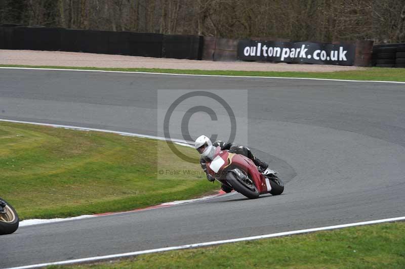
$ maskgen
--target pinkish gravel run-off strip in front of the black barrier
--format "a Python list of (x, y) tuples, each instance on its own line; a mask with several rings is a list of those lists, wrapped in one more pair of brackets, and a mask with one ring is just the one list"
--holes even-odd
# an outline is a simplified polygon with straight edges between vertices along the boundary
[(263, 62), (213, 62), (168, 58), (149, 58), (77, 52), (0, 50), (0, 64), (74, 67), (163, 68), (235, 71), (333, 72), (361, 69), (355, 66), (286, 64)]

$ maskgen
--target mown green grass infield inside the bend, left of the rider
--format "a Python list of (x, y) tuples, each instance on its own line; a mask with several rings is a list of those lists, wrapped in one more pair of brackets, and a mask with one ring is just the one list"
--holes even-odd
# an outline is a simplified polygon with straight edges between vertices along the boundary
[(22, 219), (130, 210), (220, 187), (204, 175), (160, 176), (158, 169), (201, 171), (163, 141), (0, 122), (0, 195)]

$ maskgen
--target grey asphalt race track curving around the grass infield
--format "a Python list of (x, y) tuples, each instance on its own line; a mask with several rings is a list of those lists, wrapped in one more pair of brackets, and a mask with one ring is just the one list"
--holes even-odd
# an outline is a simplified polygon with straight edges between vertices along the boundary
[(0, 267), (405, 215), (405, 84), (1, 69), (0, 118), (161, 136), (157, 89), (249, 89), (249, 146), (285, 193), (22, 227)]

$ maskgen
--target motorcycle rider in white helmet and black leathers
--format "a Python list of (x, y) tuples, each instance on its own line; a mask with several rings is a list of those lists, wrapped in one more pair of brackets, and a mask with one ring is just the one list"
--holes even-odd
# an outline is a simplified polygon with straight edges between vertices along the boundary
[[(251, 159), (256, 166), (258, 167), (259, 171), (263, 171), (266, 172), (267, 167), (269, 166), (267, 163), (259, 160), (259, 158), (255, 157), (252, 154), (252, 151), (245, 146), (241, 146), (241, 145), (236, 145), (233, 143), (225, 143), (223, 141), (215, 141), (214, 143), (211, 142), (211, 140), (206, 137), (206, 136), (200, 136), (198, 137), (195, 142), (194, 142), (194, 146), (195, 149), (198, 151), (198, 153), (200, 154), (200, 165), (203, 168), (204, 172), (206, 172), (207, 174), (207, 179), (210, 182), (214, 182), (215, 178), (210, 175), (209, 173), (207, 173), (207, 161), (212, 161), (215, 155), (215, 149), (217, 147), (221, 147), (221, 150), (228, 150), (231, 153), (236, 153), (236, 154), (241, 154), (244, 155), (246, 157), (248, 157), (249, 159)], [(232, 191), (232, 189), (230, 189), (229, 187), (222, 185), (221, 189), (226, 192), (229, 193)]]

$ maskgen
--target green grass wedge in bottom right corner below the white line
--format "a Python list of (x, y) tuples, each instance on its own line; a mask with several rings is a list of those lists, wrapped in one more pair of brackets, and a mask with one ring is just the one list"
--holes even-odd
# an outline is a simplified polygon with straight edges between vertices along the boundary
[(50, 268), (404, 268), (405, 223), (384, 223)]

